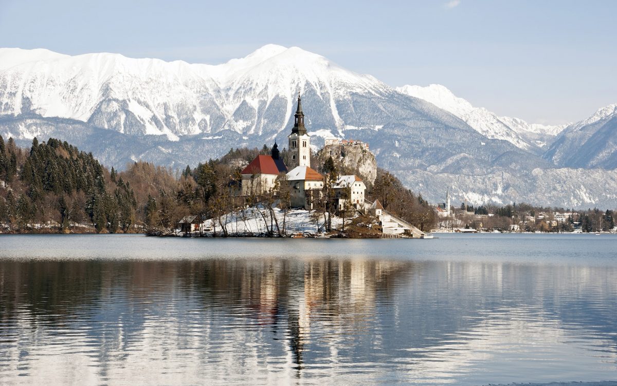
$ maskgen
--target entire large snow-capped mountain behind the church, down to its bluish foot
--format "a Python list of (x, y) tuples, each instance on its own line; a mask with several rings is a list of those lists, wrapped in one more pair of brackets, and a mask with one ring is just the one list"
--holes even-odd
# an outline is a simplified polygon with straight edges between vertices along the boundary
[[(617, 199), (606, 190), (617, 191), (616, 171), (562, 172), (540, 157), (529, 133), (553, 138), (557, 128), (491, 116), (436, 90), (410, 96), (297, 47), (267, 45), (220, 65), (0, 49), (0, 134), (22, 146), (59, 138), (118, 168), (138, 159), (183, 168), (231, 147), (285, 144), (300, 92), (313, 144), (366, 141), (379, 166), (433, 202), (448, 185), (473, 203)], [(449, 102), (427, 96), (440, 93)]]

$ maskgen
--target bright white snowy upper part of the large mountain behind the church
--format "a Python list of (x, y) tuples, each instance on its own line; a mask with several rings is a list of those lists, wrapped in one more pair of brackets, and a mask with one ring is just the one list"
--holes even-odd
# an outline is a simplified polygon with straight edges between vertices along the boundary
[(275, 45), (215, 66), (2, 49), (0, 70), (2, 115), (36, 113), (171, 140), (225, 130), (262, 134), (265, 126), (283, 129), (297, 92), (317, 94), (327, 107), (319, 112), (329, 116), (324, 123), (342, 129), (337, 91), (380, 94), (386, 88), (320, 55)]

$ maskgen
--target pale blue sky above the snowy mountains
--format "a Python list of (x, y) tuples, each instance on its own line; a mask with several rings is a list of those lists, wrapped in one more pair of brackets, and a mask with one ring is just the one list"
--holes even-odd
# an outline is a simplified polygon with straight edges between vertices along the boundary
[(0, 0), (0, 47), (219, 64), (298, 46), (391, 86), (443, 84), (561, 124), (617, 103), (617, 1)]

